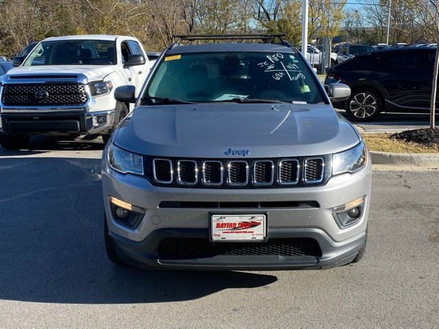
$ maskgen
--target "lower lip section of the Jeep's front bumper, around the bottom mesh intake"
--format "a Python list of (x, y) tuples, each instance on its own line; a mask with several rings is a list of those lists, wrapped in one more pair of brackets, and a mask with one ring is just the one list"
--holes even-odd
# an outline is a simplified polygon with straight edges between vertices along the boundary
[(157, 246), (163, 239), (209, 239), (203, 229), (155, 230), (141, 242), (110, 232), (118, 256), (126, 263), (147, 269), (328, 269), (350, 263), (366, 243), (366, 232), (346, 241), (335, 242), (316, 228), (272, 229), (269, 239), (315, 239), (321, 256), (213, 256), (210, 258), (161, 258)]

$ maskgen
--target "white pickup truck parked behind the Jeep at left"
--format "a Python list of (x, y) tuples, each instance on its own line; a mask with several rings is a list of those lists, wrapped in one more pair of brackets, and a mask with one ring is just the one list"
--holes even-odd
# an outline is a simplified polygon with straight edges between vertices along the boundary
[(115, 89), (140, 90), (151, 65), (139, 40), (107, 35), (47, 38), (13, 63), (0, 88), (0, 145), (7, 149), (25, 148), (34, 134), (108, 141), (130, 112), (130, 104), (115, 101)]

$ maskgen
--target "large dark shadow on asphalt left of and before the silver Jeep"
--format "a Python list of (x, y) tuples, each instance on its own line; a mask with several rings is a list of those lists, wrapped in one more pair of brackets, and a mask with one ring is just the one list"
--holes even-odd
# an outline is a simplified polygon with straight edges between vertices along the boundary
[(0, 300), (112, 304), (193, 300), (263, 287), (276, 276), (143, 271), (106, 258), (100, 160), (4, 158)]

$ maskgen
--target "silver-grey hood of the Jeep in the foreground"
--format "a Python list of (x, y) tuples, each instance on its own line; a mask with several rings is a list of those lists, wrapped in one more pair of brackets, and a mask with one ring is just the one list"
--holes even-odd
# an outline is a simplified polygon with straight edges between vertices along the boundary
[[(359, 143), (330, 105), (201, 103), (141, 106), (127, 117), (115, 144), (152, 156), (248, 158), (316, 156)], [(246, 152), (239, 152), (240, 154)]]

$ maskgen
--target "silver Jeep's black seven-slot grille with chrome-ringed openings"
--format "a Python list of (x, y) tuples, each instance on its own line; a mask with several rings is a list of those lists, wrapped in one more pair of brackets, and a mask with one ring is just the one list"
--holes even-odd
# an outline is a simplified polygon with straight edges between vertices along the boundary
[(187, 188), (278, 188), (315, 186), (331, 175), (330, 156), (281, 159), (217, 159), (145, 157), (152, 184)]

